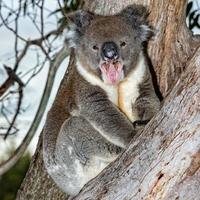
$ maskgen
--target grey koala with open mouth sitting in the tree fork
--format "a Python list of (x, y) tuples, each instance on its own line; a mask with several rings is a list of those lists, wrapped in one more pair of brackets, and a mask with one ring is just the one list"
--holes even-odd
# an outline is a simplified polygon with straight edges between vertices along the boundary
[[(153, 31), (147, 10), (132, 5), (116, 15), (69, 14), (66, 43), (76, 55), (69, 83), (69, 117), (53, 136), (47, 120), (45, 167), (71, 196), (114, 161), (159, 110), (144, 54)], [(56, 120), (55, 120), (56, 121)], [(53, 139), (52, 139), (53, 138)]]

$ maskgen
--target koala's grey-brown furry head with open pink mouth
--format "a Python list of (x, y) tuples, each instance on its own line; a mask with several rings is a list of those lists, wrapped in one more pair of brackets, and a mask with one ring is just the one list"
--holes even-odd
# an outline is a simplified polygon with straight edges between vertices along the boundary
[(113, 16), (80, 10), (69, 15), (72, 23), (66, 41), (88, 72), (115, 85), (134, 70), (143, 43), (152, 36), (147, 15), (141, 5), (129, 6)]

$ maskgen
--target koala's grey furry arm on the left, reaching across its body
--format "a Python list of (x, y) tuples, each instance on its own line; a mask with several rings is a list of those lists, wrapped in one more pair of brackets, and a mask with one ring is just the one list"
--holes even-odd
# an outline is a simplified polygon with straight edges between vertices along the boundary
[(102, 91), (88, 91), (80, 98), (80, 115), (108, 141), (125, 148), (135, 134), (132, 123)]

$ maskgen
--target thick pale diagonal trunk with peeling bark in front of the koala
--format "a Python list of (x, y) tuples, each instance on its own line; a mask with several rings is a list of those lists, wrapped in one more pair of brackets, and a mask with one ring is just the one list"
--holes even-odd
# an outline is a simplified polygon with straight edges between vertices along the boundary
[[(177, 198), (173, 188), (178, 188), (188, 171), (194, 176), (200, 172), (200, 163), (192, 166), (196, 162), (193, 158), (200, 158), (197, 156), (200, 149), (199, 62), (200, 48), (158, 115), (141, 135), (133, 138), (123, 155), (89, 182), (74, 200)], [(198, 182), (198, 176), (193, 181)], [(190, 185), (197, 197), (200, 188), (196, 189), (194, 183)], [(191, 199), (192, 192), (187, 194), (181, 187), (179, 190), (187, 196), (184, 199)]]

